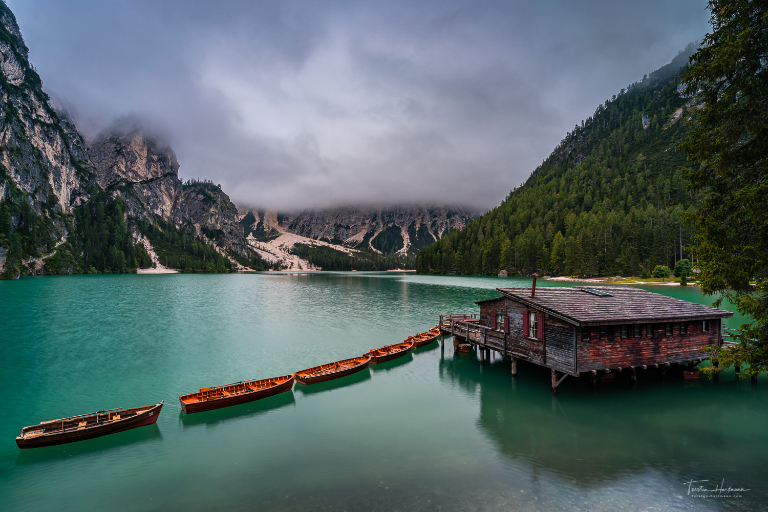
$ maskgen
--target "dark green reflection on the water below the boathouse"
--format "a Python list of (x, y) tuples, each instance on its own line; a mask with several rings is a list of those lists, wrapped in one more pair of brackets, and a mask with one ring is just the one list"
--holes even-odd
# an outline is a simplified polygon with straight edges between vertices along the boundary
[[(472, 395), (479, 391), (478, 427), (510, 459), (581, 484), (653, 469), (671, 473), (670, 484), (691, 475), (733, 477), (739, 486), (764, 489), (768, 472), (755, 450), (768, 442), (766, 388), (645, 372), (636, 387), (628, 375), (595, 389), (569, 378), (554, 396), (547, 368), (518, 365), (513, 381), (508, 361), (483, 366), (467, 356), (441, 360), (439, 374)], [(754, 481), (743, 481), (744, 474)]]

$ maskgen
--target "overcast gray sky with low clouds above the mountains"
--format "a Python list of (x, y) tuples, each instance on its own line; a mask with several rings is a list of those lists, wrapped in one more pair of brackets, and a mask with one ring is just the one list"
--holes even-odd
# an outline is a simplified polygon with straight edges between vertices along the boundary
[(8, 0), (93, 136), (135, 114), (240, 205), (498, 205), (709, 29), (704, 0)]

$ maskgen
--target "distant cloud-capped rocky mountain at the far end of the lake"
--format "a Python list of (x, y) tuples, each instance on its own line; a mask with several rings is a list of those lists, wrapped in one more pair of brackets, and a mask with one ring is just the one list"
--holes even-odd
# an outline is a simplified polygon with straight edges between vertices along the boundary
[(265, 242), (286, 232), (373, 253), (413, 256), (446, 233), (461, 230), (471, 219), (458, 206), (346, 206), (304, 210), (298, 215), (247, 210), (240, 223), (246, 236)]

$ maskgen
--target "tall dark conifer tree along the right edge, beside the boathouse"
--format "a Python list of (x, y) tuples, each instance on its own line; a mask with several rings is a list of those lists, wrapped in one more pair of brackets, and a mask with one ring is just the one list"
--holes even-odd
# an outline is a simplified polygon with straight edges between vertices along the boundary
[[(702, 101), (680, 149), (697, 165), (683, 176), (703, 202), (697, 230), (704, 293), (750, 319), (735, 347), (713, 349), (720, 368), (768, 370), (768, 2), (711, 0), (713, 32), (691, 56), (688, 94)], [(750, 281), (755, 282), (754, 285)]]

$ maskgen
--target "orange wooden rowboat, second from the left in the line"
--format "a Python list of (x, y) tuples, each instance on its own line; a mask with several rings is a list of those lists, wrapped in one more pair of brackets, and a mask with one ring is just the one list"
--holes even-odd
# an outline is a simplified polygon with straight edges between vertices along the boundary
[(179, 401), (181, 408), (187, 414), (200, 411), (210, 411), (230, 405), (244, 404), (249, 401), (260, 400), (268, 396), (277, 395), (293, 388), (293, 375), (282, 377), (252, 379), (250, 381), (233, 382), (200, 388), (197, 393), (181, 395)]

